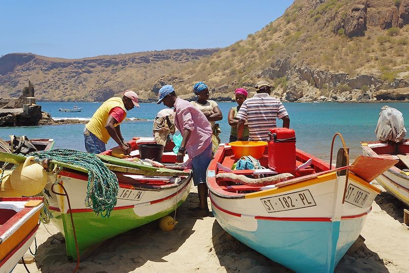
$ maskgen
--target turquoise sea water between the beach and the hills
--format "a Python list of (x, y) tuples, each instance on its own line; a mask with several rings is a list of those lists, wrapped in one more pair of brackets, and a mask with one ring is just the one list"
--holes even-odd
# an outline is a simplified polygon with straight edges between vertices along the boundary
[[(80, 118), (89, 119), (101, 105), (99, 102), (38, 102), (42, 111), (48, 112), (55, 119)], [(229, 109), (237, 106), (236, 102), (219, 102), (223, 119), (219, 121), (222, 130), (221, 141), (229, 141), (230, 125), (227, 121)], [(296, 131), (297, 148), (304, 150), (321, 159), (330, 157), (331, 140), (336, 132), (341, 133), (350, 148), (351, 158), (361, 154), (359, 141), (375, 140), (375, 128), (378, 121), (380, 108), (384, 105), (394, 107), (403, 114), (406, 120), (406, 130), (409, 131), (409, 103), (334, 103), (310, 102), (296, 103), (285, 102), (284, 106), (290, 116), (290, 128)], [(59, 112), (60, 108), (72, 109), (74, 106), (82, 107), (80, 113)], [(152, 136), (153, 118), (156, 113), (165, 108), (163, 104), (140, 103), (140, 108), (128, 112), (128, 118), (143, 118), (147, 121), (127, 121), (121, 124), (121, 131), (125, 139), (133, 136)], [(281, 120), (277, 122), (282, 126)], [(0, 128), (0, 137), (9, 139), (9, 135), (26, 135), (29, 138), (53, 138), (55, 148), (69, 148), (85, 151), (82, 130), (84, 124), (73, 125), (45, 125), (37, 127), (8, 127)], [(340, 140), (335, 141), (335, 147), (341, 146)], [(107, 148), (115, 146), (112, 139)], [(334, 150), (336, 151), (336, 150)], [(336, 153), (336, 152), (334, 152)]]

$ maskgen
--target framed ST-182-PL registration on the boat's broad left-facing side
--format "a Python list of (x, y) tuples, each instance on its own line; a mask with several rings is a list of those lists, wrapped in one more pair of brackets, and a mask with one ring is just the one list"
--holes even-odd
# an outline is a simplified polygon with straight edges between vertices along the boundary
[(309, 190), (260, 199), (267, 213), (316, 206)]

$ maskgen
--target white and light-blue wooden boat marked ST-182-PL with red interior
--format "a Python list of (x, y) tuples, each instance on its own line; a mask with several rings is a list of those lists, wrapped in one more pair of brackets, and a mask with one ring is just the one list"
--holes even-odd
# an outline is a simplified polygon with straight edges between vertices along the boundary
[(274, 181), (280, 175), (269, 165), (282, 164), (292, 152), (280, 152), (280, 142), (270, 149), (273, 142), (259, 160), (265, 169), (259, 170), (232, 170), (238, 164), (232, 146), (219, 146), (207, 174), (213, 214), (226, 232), (277, 263), (296, 272), (333, 272), (380, 193), (370, 181), (396, 160), (375, 159), (373, 164), (373, 158), (359, 156), (352, 165), (346, 160), (334, 169), (294, 144), (293, 167), (285, 174), (293, 177), (270, 185), (245, 184), (252, 180), (248, 176)]

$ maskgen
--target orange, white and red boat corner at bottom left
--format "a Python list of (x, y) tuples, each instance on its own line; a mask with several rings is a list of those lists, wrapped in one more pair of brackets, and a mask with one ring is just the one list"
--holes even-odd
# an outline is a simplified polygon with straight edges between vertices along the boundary
[(34, 241), (42, 197), (0, 197), (0, 272), (11, 272)]

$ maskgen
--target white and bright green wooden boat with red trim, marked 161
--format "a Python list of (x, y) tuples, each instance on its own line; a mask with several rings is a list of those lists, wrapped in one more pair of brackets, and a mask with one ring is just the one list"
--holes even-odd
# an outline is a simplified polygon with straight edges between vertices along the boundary
[[(188, 197), (192, 183), (191, 170), (175, 164), (176, 155), (173, 152), (163, 153), (162, 164), (165, 167), (153, 167), (133, 161), (139, 157), (139, 145), (156, 143), (153, 138), (134, 138), (128, 143), (131, 144), (132, 157), (127, 160), (112, 157), (112, 150), (98, 155), (119, 182), (115, 207), (109, 217), (96, 215), (85, 204), (87, 170), (52, 161), (60, 169), (58, 173), (49, 174), (44, 198), (53, 216), (51, 222), (65, 237), (69, 259), (78, 260), (78, 256), (80, 260), (85, 259), (107, 239), (167, 216)], [(13, 160), (23, 162), (26, 158), (14, 156)], [(55, 184), (56, 180), (58, 184)]]

